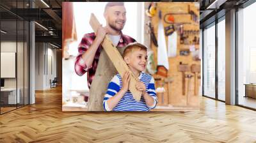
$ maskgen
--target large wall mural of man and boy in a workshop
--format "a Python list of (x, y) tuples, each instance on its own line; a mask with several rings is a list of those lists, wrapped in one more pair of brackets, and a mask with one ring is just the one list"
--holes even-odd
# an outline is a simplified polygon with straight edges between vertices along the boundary
[(199, 3), (99, 3), (106, 24), (92, 10), (81, 38), (76, 4), (63, 3), (63, 111), (199, 109)]

